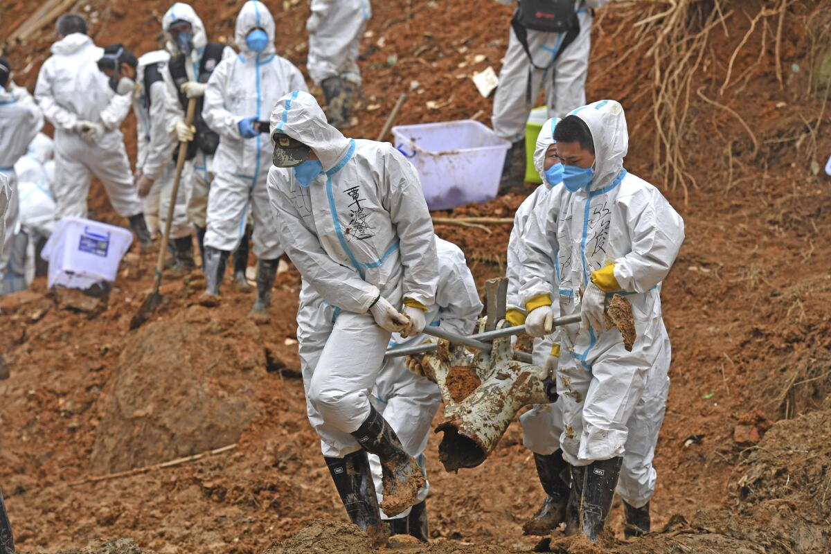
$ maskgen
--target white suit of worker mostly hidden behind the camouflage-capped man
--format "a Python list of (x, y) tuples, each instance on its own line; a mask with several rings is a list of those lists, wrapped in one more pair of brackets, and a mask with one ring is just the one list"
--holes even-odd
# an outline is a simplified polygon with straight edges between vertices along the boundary
[[(467, 266), (465, 252), (454, 243), (438, 237), (435, 238), (435, 249), (439, 255), (439, 287), (435, 292), (435, 304), (429, 306), (425, 313), (427, 325), (440, 326), (458, 335), (470, 335), (482, 311), (482, 302), (479, 301), (479, 292), (476, 292), (473, 274)], [(390, 347), (415, 346), (428, 338), (422, 334), (405, 339), (393, 333)], [(408, 370), (404, 360), (387, 358), (384, 361), (371, 401), (401, 439), (406, 453), (416, 458), (424, 472), (425, 486), (418, 495), (418, 502), (421, 502), (430, 493), (424, 450), (430, 436), (430, 424), (441, 404), (441, 392), (439, 385)], [(381, 462), (376, 455), (370, 454), (369, 463), (380, 505), (383, 499)], [(408, 507), (396, 518), (409, 514)], [(383, 510), (381, 517), (389, 519)]]

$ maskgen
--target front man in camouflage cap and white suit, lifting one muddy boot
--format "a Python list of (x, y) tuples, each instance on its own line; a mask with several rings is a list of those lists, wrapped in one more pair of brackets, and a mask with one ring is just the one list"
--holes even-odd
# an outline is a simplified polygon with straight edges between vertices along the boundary
[(333, 321), (297, 331), (309, 420), (352, 521), (383, 541), (358, 501), (371, 494), (366, 454), (381, 459), (389, 516), (418, 503), (425, 478), (367, 393), (391, 333), (420, 334), (435, 304), (433, 223), (404, 156), (388, 143), (347, 139), (308, 93), (278, 101), (271, 138), (268, 195), (280, 243), (304, 286), (333, 306)]

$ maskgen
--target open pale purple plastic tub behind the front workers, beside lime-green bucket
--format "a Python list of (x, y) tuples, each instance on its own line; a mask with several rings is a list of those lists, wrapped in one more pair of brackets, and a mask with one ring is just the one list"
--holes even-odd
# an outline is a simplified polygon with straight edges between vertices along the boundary
[(392, 136), (416, 166), (430, 209), (496, 198), (510, 143), (479, 121), (400, 125)]

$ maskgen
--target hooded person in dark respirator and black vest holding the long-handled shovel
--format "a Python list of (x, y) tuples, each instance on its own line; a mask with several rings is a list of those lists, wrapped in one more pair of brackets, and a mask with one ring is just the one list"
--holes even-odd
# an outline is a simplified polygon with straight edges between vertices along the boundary
[[(214, 180), (214, 152), (219, 146), (219, 135), (211, 130), (202, 115), (203, 96), (211, 73), (220, 61), (236, 57), (234, 48), (219, 42), (209, 42), (204, 24), (193, 7), (175, 2), (161, 19), (170, 61), (162, 71), (165, 80), (166, 127), (171, 136), (189, 142), (188, 163), (185, 166), (187, 213), (196, 228), (199, 255), (204, 267), (204, 235), (207, 227), (208, 191)], [(194, 124), (184, 122), (190, 98), (196, 98)], [(175, 155), (171, 151), (171, 156)], [(244, 224), (244, 223), (243, 223)]]

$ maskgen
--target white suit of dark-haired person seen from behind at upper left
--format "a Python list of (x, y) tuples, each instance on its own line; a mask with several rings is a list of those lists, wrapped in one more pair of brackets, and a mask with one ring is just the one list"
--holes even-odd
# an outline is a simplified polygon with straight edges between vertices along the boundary
[[(96, 64), (103, 49), (75, 32), (52, 45), (52, 56), (37, 76), (35, 98), (55, 127), (57, 217), (86, 218), (86, 196), (96, 174), (112, 207), (123, 218), (141, 213), (130, 160), (119, 126), (130, 111), (130, 95), (116, 95)], [(80, 120), (101, 123), (106, 131), (92, 142), (73, 129)]]

